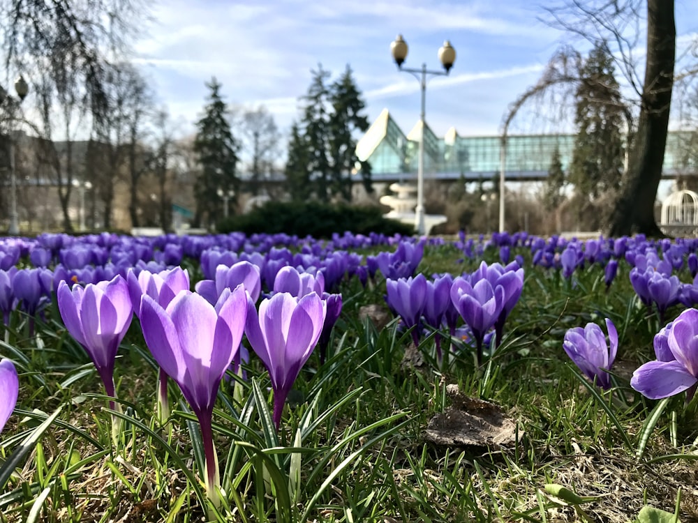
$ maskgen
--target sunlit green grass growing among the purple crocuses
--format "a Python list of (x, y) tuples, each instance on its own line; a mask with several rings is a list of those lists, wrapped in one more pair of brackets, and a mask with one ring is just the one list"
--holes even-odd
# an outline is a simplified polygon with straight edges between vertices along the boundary
[[(530, 257), (521, 253), (527, 257), (523, 295), (489, 372), (475, 368), (471, 353), (439, 369), (433, 364), (433, 336), (419, 346), (423, 365), (403, 365), (411, 336), (401, 333), (396, 321), (379, 331), (359, 319), (363, 305), (385, 307), (380, 277), (366, 290), (356, 281), (343, 287), (331, 356), (322, 367), (316, 356), (306, 364), (278, 433), (269, 412), (269, 379), (253, 356), (251, 379), (224, 383), (214, 410), (224, 491), (216, 518), (629, 521), (646, 504), (673, 513), (678, 488), (685, 487), (681, 517), (695, 520), (695, 405), (686, 409), (683, 397), (646, 400), (628, 384), (628, 370), (652, 358), (659, 328), (634, 298), (628, 266), (621, 264), (607, 293), (597, 266), (576, 274), (572, 285), (558, 273), (530, 266)], [(450, 246), (428, 248), (420, 270), (459, 274), (480, 263), (458, 264), (458, 258)], [(486, 252), (486, 259), (494, 261), (493, 252)], [(669, 311), (671, 317), (678, 312)], [(602, 324), (605, 317), (618, 327), (618, 360), (624, 363), (609, 393), (588, 384), (562, 349), (568, 328)], [(156, 421), (156, 368), (137, 321), (117, 360), (124, 413), (114, 414), (122, 423), (116, 443), (98, 377), (61, 326), (57, 308), (47, 310), (34, 338), (27, 336), (19, 313), (7, 332), (0, 355), (17, 364), (21, 388), (0, 440), (0, 459), (10, 460), (28, 437), (38, 444), (26, 448), (0, 494), (1, 522), (205, 517), (198, 425), (174, 385), (172, 416), (164, 426)], [(427, 423), (450, 405), (448, 384), (500, 405), (515, 421), (519, 443), (503, 448), (426, 443)], [(545, 486), (551, 483), (590, 498), (575, 507), (550, 494)]]

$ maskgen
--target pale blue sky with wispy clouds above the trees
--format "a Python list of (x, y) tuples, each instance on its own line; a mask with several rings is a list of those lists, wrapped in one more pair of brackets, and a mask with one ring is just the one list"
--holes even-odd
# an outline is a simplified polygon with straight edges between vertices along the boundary
[[(410, 47), (405, 66), (440, 69), (438, 48), (450, 40), (456, 62), (450, 76), (429, 80), (426, 121), (439, 136), (451, 126), (463, 136), (494, 135), (507, 106), (537, 81), (563, 41), (563, 33), (539, 20), (547, 16), (540, 5), (551, 2), (161, 0), (135, 61), (181, 132), (193, 132), (211, 76), (230, 105), (265, 105), (287, 131), (318, 63), (333, 78), (349, 64), (369, 121), (387, 108), (408, 132), (419, 117), (419, 83), (398, 72), (390, 43), (401, 33)], [(684, 46), (698, 38), (693, 4), (676, 0)], [(557, 124), (537, 112), (526, 109), (512, 130), (554, 132)]]

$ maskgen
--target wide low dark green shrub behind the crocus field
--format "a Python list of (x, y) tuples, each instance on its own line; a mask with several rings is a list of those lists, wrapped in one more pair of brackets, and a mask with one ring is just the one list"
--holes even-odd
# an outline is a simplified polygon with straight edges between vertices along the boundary
[(332, 234), (350, 231), (386, 235), (414, 233), (411, 225), (390, 220), (377, 206), (323, 204), (320, 202), (267, 202), (251, 212), (232, 216), (218, 223), (218, 232), (245, 234), (283, 232), (297, 236), (331, 238)]

